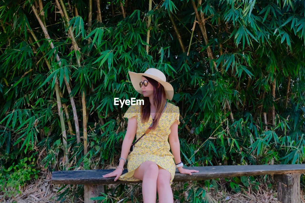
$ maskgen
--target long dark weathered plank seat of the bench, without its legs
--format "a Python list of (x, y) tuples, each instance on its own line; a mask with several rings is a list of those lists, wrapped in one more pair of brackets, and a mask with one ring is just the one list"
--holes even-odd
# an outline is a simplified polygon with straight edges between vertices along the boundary
[[(268, 174), (287, 174), (287, 173), (305, 173), (305, 164), (285, 164), (285, 165), (237, 165), (237, 166), (183, 166), (185, 169), (199, 170), (192, 175), (181, 174), (176, 169), (173, 182), (183, 182), (190, 180), (210, 180), (224, 177), (237, 176), (256, 176)], [(71, 185), (104, 185), (120, 183), (142, 183), (140, 181), (114, 181), (115, 176), (104, 178), (102, 175), (110, 173), (115, 169), (99, 170), (74, 170), (74, 171), (53, 171), (53, 184), (71, 184)], [(123, 173), (127, 173), (124, 169)]]

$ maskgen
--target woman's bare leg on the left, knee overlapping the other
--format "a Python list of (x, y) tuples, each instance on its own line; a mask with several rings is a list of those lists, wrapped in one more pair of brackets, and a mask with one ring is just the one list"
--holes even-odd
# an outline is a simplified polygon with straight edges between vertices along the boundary
[(135, 169), (133, 176), (142, 180), (144, 203), (156, 203), (158, 172), (158, 165), (152, 161), (145, 161)]

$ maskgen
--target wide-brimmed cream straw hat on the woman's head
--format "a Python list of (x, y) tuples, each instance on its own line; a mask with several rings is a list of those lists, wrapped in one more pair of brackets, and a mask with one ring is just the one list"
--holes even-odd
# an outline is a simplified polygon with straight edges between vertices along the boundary
[(142, 94), (142, 88), (139, 86), (139, 82), (142, 81), (142, 76), (147, 76), (162, 84), (166, 93), (166, 98), (172, 100), (174, 96), (174, 88), (173, 86), (171, 86), (171, 84), (166, 82), (166, 77), (164, 73), (162, 73), (160, 70), (155, 68), (149, 68), (144, 73), (135, 73), (131, 71), (128, 71), (128, 73), (130, 76), (131, 83), (138, 93)]

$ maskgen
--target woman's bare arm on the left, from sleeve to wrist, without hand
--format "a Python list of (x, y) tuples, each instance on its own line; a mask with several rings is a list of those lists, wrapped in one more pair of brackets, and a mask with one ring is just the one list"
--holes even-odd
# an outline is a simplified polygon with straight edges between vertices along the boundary
[[(128, 119), (127, 131), (126, 131), (126, 134), (125, 134), (125, 137), (123, 140), (122, 151), (121, 151), (120, 157), (127, 159), (128, 152), (130, 150), (132, 141), (135, 139), (136, 131), (137, 131), (137, 119), (133, 116), (132, 118)], [(125, 161), (123, 159), (121, 159), (119, 162), (119, 166), (124, 167), (124, 163), (125, 163)], [(121, 169), (121, 168), (119, 168), (119, 169)]]

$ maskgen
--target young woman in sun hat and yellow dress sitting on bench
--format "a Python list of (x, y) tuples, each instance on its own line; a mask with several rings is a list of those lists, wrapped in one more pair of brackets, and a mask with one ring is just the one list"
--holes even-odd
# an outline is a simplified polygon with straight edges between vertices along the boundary
[[(136, 91), (143, 94), (144, 105), (131, 105), (124, 114), (128, 123), (119, 166), (103, 177), (116, 176), (115, 181), (142, 180), (144, 203), (156, 203), (156, 192), (160, 203), (174, 202), (171, 184), (176, 167), (180, 173), (192, 175), (192, 172), (198, 172), (182, 168), (178, 139), (179, 107), (166, 101), (173, 98), (174, 89), (166, 82), (165, 75), (155, 68), (149, 68), (145, 73), (129, 71), (129, 76)], [(135, 134), (137, 139), (141, 137), (151, 123), (151, 131), (135, 143), (128, 155)], [(121, 175), (127, 155), (128, 172)]]

